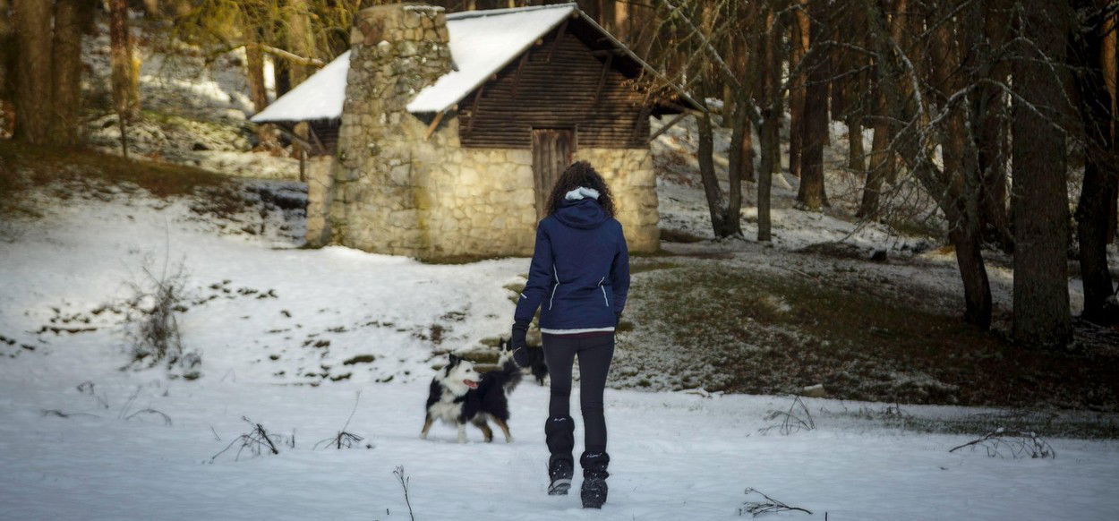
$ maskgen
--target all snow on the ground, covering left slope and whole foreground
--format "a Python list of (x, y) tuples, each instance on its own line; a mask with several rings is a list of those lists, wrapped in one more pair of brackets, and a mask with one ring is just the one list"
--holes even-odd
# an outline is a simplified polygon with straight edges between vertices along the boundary
[[(441, 361), (433, 352), (504, 332), (513, 304), (501, 286), (527, 259), (448, 266), (298, 249), (300, 229), (283, 219), (265, 216), (263, 234), (219, 235), (188, 201), (121, 195), (70, 199), (16, 225), (23, 233), (0, 244), (0, 334), (13, 341), (0, 348), (0, 519), (408, 519), (397, 465), (417, 519), (737, 519), (745, 487), (814, 512), (784, 515), (803, 519), (1119, 517), (1115, 441), (1049, 439), (1055, 460), (993, 458), (948, 452), (969, 436), (856, 414), (882, 405), (811, 399), (818, 428), (782, 436), (760, 429), (789, 398), (614, 389), (610, 501), (582, 511), (577, 495), (545, 495), (548, 392), (535, 383), (513, 395), (511, 445), (478, 443), (477, 430), (459, 445), (446, 426), (417, 438), (430, 366)], [(145, 257), (157, 269), (184, 263), (181, 326), (201, 352), (197, 380), (120, 370), (121, 320), (93, 312), (129, 296)], [(438, 344), (433, 324), (445, 328)], [(345, 364), (358, 354), (375, 363)], [(85, 381), (92, 389), (78, 389)], [(342, 428), (358, 391), (347, 430), (372, 448), (313, 449)], [(210, 462), (248, 432), (243, 416), (294, 447)]]

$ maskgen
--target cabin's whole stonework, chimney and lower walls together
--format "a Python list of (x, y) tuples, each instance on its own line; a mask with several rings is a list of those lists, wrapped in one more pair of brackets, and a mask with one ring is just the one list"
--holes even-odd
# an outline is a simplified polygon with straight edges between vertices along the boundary
[[(430, 259), (529, 255), (536, 238), (530, 150), (462, 148), (449, 114), (429, 122), (405, 111), (450, 70), (441, 8), (395, 4), (359, 12), (338, 160), (312, 167), (308, 244)], [(631, 250), (659, 247), (657, 191), (648, 150), (584, 149), (615, 195)]]

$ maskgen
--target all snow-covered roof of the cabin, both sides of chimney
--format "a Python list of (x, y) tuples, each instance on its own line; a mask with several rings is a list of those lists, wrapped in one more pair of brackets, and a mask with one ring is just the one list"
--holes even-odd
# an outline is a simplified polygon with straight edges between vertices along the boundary
[[(446, 15), (454, 70), (421, 89), (408, 103), (408, 112), (442, 112), (450, 108), (573, 13), (580, 13), (576, 3)], [(593, 20), (585, 16), (583, 18), (605, 34)], [(612, 41), (624, 48), (617, 40)], [(636, 56), (632, 57), (648, 67)], [(341, 117), (348, 70), (349, 51), (346, 51), (254, 115), (251, 121), (262, 123)], [(686, 94), (680, 94), (690, 101)]]

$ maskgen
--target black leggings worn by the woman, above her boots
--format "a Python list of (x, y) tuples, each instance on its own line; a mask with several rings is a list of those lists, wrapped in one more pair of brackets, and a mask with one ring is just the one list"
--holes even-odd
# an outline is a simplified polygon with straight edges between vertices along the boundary
[(571, 416), (571, 369), (579, 354), (580, 408), (583, 409), (584, 445), (591, 452), (606, 451), (606, 419), (602, 414), (602, 390), (614, 357), (614, 333), (570, 338), (545, 334), (544, 358), (552, 377), (548, 416)]

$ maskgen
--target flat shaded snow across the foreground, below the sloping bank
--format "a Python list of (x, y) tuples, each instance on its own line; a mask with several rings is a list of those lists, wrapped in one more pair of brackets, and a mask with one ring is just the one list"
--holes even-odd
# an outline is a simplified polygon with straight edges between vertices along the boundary
[[(1056, 460), (999, 460), (981, 451), (949, 454), (962, 436), (858, 423), (759, 434), (781, 398), (608, 390), (613, 475), (600, 513), (579, 509), (576, 495), (545, 495), (547, 394), (535, 385), (513, 395), (511, 445), (480, 443), (477, 430), (459, 445), (446, 426), (431, 441), (416, 437), (421, 382), (144, 382), (124, 375), (103, 389), (106, 410), (73, 387), (6, 376), (0, 519), (407, 519), (396, 465), (411, 476), (420, 520), (737, 519), (746, 486), (815, 513), (782, 515), (797, 519), (824, 519), (825, 511), (836, 520), (1119, 517), (1119, 447), (1111, 442), (1057, 439)], [(134, 385), (142, 391), (133, 409), (166, 411), (172, 426), (116, 418)], [(345, 423), (359, 388), (349, 430), (374, 448), (312, 451)], [(821, 406), (836, 404), (810, 402)], [(101, 417), (45, 417), (45, 408)], [(294, 430), (297, 448), (204, 463), (247, 430), (241, 415), (281, 434)]]

